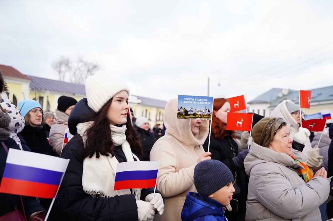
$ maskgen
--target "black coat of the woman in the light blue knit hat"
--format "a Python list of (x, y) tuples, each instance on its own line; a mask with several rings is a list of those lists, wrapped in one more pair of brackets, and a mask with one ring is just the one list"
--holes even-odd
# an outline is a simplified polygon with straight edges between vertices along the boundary
[(20, 135), (32, 152), (56, 156), (47, 140), (44, 127), (31, 127), (26, 124), (24, 129), (20, 132)]

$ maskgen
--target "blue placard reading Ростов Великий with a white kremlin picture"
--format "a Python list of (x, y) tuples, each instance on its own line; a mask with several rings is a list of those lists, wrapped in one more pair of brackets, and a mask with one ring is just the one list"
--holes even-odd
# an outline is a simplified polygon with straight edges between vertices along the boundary
[(213, 97), (178, 95), (177, 118), (210, 120)]

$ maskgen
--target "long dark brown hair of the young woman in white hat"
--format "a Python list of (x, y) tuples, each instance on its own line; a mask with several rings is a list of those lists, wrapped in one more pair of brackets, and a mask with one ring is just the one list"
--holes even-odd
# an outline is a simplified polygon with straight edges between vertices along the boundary
[[(110, 156), (110, 154), (112, 157), (114, 156), (113, 150), (115, 148), (115, 144), (112, 141), (110, 123), (106, 117), (111, 103), (112, 98), (101, 108), (99, 112), (92, 116), (93, 125), (85, 132), (87, 139), (85, 148), (82, 152), (83, 158), (93, 157), (94, 154), (96, 154), (96, 158), (99, 158), (100, 154), (103, 156)], [(132, 152), (142, 156), (143, 150), (140, 139), (132, 125), (129, 114), (126, 119), (126, 140), (129, 142)]]

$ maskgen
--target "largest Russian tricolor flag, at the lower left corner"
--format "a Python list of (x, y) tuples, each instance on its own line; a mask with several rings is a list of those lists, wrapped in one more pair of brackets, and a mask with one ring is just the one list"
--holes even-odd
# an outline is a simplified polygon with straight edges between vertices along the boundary
[(10, 148), (0, 192), (54, 198), (69, 160)]

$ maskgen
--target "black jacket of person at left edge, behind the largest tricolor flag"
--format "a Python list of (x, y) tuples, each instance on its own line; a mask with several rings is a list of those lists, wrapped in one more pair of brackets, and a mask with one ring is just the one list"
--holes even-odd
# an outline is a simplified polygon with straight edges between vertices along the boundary
[[(21, 138), (21, 137), (20, 137)], [(24, 151), (30, 151), (27, 145), (25, 144), (23, 139), (21, 140), (22, 148)], [(13, 149), (20, 150), (19, 146), (13, 140), (12, 138), (8, 138), (5, 141), (6, 146)], [(2, 175), (4, 172), (4, 168), (6, 165), (6, 159), (7, 159), (7, 152), (3, 148), (2, 144), (0, 143), (0, 180), (2, 179)], [(36, 197), (27, 197), (22, 196), (22, 202), (24, 205), (24, 210), (26, 213), (27, 218), (29, 219), (30, 215), (37, 211), (45, 211), (45, 209), (41, 206), (40, 203), (36, 201)], [(12, 195), (12, 194), (5, 194), (0, 193), (0, 216), (9, 213), (11, 211), (14, 211), (15, 208), (18, 208), (18, 210), (23, 215), (23, 210), (21, 206), (21, 199), (19, 195)]]

